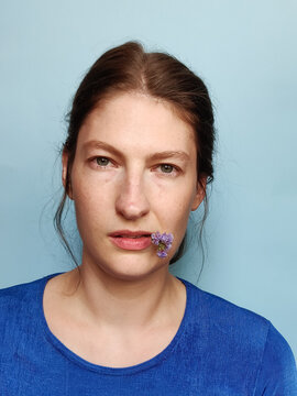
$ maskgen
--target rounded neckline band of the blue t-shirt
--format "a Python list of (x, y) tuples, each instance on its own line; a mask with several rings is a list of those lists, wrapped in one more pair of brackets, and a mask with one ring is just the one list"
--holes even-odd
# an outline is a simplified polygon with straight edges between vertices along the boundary
[(172, 341), (169, 342), (169, 344), (163, 351), (161, 351), (158, 354), (151, 358), (150, 360), (146, 360), (142, 363), (139, 363), (139, 364), (135, 364), (132, 366), (128, 366), (128, 367), (109, 367), (109, 366), (103, 366), (103, 365), (88, 362), (84, 358), (80, 358), (75, 352), (69, 350), (62, 341), (59, 341), (58, 338), (51, 331), (51, 329), (47, 324), (47, 321), (45, 319), (44, 309), (43, 309), (43, 296), (44, 296), (45, 285), (52, 277), (61, 275), (61, 274), (63, 274), (63, 272), (51, 274), (51, 275), (47, 275), (42, 278), (43, 282), (41, 282), (41, 288), (40, 288), (40, 294), (38, 294), (38, 307), (40, 307), (42, 327), (43, 327), (43, 331), (46, 336), (47, 341), (50, 341), (51, 344), (56, 350), (58, 350), (66, 359), (74, 362), (75, 364), (78, 364), (80, 367), (84, 367), (85, 370), (88, 370), (88, 371), (92, 371), (92, 372), (97, 372), (97, 373), (101, 373), (101, 374), (109, 374), (109, 375), (134, 374), (134, 373), (138, 373), (141, 371), (147, 370), (154, 365), (157, 365), (162, 361), (167, 359), (170, 355), (170, 353), (174, 352), (174, 349), (176, 348), (177, 343), (183, 338), (185, 328), (189, 321), (189, 316), (190, 316), (190, 310), (191, 310), (190, 307), (193, 304), (193, 294), (191, 294), (193, 285), (189, 282), (176, 276), (176, 278), (179, 279), (180, 282), (183, 282), (186, 287), (186, 308), (184, 311), (182, 322), (177, 329), (177, 332), (175, 333), (175, 336), (172, 339)]

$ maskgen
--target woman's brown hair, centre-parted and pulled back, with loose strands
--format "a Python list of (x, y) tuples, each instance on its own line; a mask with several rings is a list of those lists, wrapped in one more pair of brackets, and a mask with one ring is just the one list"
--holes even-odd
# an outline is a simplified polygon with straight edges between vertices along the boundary
[[(193, 147), (196, 152), (195, 177), (199, 191), (205, 194), (206, 184), (213, 178), (213, 113), (205, 84), (176, 58), (163, 53), (145, 53), (135, 42), (125, 43), (108, 51), (94, 64), (73, 101), (68, 136), (63, 147), (66, 158), (65, 194), (55, 217), (56, 227), (63, 238), (61, 218), (66, 197), (72, 194), (72, 170), (79, 135), (84, 133), (86, 122), (92, 114), (99, 114), (109, 102), (114, 105), (114, 98), (118, 98), (118, 105), (119, 98), (130, 98), (130, 102), (141, 98), (142, 103), (148, 100), (150, 106), (160, 103), (164, 109), (166, 106), (176, 117), (175, 120), (179, 120), (191, 131)], [(124, 102), (127, 103), (127, 100)], [(152, 133), (152, 129), (148, 131)], [(162, 147), (160, 148), (162, 151)], [(175, 260), (180, 256), (183, 245), (184, 241)]]

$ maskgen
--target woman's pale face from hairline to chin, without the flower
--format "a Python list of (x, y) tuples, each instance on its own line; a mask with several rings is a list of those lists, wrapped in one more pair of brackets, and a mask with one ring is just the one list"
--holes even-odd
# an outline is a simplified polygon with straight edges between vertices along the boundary
[[(70, 174), (82, 265), (92, 263), (125, 279), (165, 268), (185, 235), (189, 212), (204, 198), (196, 163), (194, 131), (167, 103), (119, 94), (92, 110), (79, 131)], [(64, 184), (66, 165), (64, 154)], [(166, 258), (151, 243), (156, 231), (174, 235)]]

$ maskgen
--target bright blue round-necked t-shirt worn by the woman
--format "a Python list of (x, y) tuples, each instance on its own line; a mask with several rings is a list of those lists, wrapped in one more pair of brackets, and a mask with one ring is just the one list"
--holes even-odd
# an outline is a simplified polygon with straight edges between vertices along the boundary
[(182, 279), (184, 318), (170, 343), (129, 367), (87, 362), (50, 330), (46, 282), (0, 290), (1, 396), (295, 396), (296, 363), (265, 318)]

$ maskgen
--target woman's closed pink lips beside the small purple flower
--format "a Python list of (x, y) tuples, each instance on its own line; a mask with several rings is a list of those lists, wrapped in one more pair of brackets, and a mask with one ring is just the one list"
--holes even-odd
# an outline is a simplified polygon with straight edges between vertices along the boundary
[(120, 230), (109, 234), (111, 242), (123, 250), (140, 251), (152, 244), (150, 231)]

